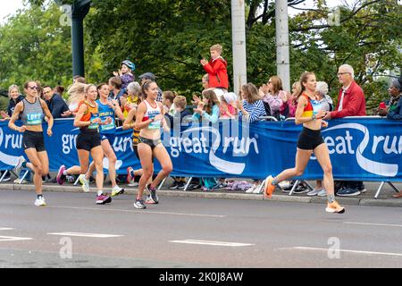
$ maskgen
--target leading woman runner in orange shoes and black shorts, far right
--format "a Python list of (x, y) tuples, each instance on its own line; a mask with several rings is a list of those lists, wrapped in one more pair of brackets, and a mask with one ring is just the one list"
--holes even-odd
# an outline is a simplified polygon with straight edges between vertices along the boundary
[(339, 206), (335, 200), (330, 154), (327, 145), (322, 139), (321, 128), (327, 127), (328, 123), (322, 121), (325, 112), (321, 109), (318, 101), (319, 98), (315, 95), (317, 83), (314, 73), (304, 72), (300, 77), (300, 84), (302, 91), (297, 100), (295, 122), (296, 124), (303, 123), (303, 130), (297, 140), (296, 166), (281, 172), (274, 178), (271, 175), (268, 176), (265, 179), (264, 196), (271, 198), (275, 187), (281, 181), (301, 176), (314, 152), (324, 172), (323, 185), (327, 191), (328, 198), (325, 211), (328, 213), (343, 214), (345, 208)]

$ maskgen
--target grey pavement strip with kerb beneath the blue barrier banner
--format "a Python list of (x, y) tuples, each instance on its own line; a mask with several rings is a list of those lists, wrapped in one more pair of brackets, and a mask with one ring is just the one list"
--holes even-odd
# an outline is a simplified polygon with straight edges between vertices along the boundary
[[(312, 186), (315, 185), (314, 181), (308, 181)], [(172, 179), (168, 178), (163, 187), (158, 190), (158, 196), (168, 197), (186, 197), (186, 198), (227, 198), (227, 199), (244, 199), (244, 200), (267, 200), (262, 194), (247, 194), (239, 190), (228, 189), (216, 189), (213, 191), (203, 191), (202, 189), (195, 190), (170, 190), (168, 187), (172, 184)], [(392, 206), (402, 207), (402, 198), (393, 198), (392, 195), (396, 194), (396, 191), (392, 189), (388, 183), (384, 183), (381, 188), (378, 198), (374, 198), (377, 190), (379, 189), (381, 182), (369, 182), (364, 181), (366, 192), (356, 197), (336, 197), (341, 205), (352, 206)], [(121, 188), (124, 188), (125, 194), (135, 195), (137, 194), (137, 187), (128, 187), (126, 184), (121, 184)], [(402, 183), (394, 183), (394, 186), (398, 190), (402, 190)], [(90, 184), (91, 192), (96, 192), (95, 183)], [(9, 182), (0, 183), (1, 189), (9, 190), (35, 190), (32, 183), (28, 184), (15, 184)], [(63, 186), (54, 183), (44, 183), (43, 189), (47, 191), (61, 191), (61, 192), (82, 192), (80, 183), (74, 186), (72, 183), (65, 183)], [(105, 189), (110, 193), (110, 182), (105, 182)], [(327, 202), (326, 197), (309, 197), (306, 194), (295, 194), (289, 196), (289, 193), (276, 189), (272, 198), (268, 199), (272, 201), (280, 202), (298, 202), (298, 203), (312, 203), (312, 204), (325, 204)]]

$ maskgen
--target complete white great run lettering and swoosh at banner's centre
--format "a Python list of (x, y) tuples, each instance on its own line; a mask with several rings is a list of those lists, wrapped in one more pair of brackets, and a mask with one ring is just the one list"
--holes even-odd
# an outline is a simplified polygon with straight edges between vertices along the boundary
[(232, 150), (231, 155), (227, 157), (245, 157), (248, 156), (251, 148), (254, 149), (255, 154), (259, 154), (258, 144), (255, 138), (248, 136), (248, 132), (242, 132), (241, 138), (239, 134), (233, 134), (237, 133), (236, 131), (232, 130), (231, 133), (225, 130), (221, 133), (214, 126), (191, 127), (182, 131), (180, 137), (172, 136), (168, 146), (171, 148), (172, 157), (179, 157), (180, 153), (205, 155), (208, 156), (209, 163), (217, 170), (239, 175), (244, 172), (246, 164), (218, 157), (218, 149), (222, 150), (223, 155)]

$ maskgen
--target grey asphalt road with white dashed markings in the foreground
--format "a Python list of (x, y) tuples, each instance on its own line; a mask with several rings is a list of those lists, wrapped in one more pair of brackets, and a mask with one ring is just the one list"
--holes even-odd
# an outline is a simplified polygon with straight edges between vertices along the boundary
[(400, 208), (0, 189), (0, 267), (401, 267)]

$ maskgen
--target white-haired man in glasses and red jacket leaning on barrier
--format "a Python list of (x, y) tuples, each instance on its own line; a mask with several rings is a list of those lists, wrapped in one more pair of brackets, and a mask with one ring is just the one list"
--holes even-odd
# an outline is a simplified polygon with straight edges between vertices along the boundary
[[(342, 64), (338, 70), (338, 80), (342, 84), (339, 90), (338, 104), (334, 111), (327, 112), (324, 120), (345, 116), (364, 116), (365, 98), (363, 89), (355, 81), (355, 71), (349, 64)], [(358, 196), (364, 193), (363, 181), (336, 181), (335, 192), (341, 197)]]

